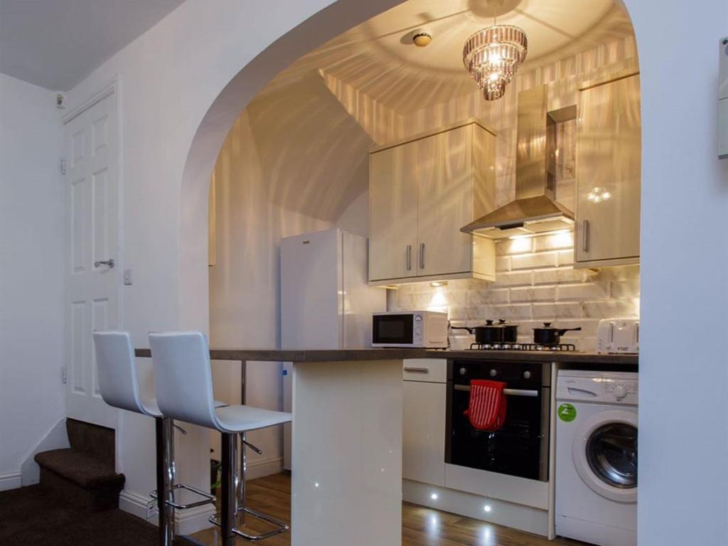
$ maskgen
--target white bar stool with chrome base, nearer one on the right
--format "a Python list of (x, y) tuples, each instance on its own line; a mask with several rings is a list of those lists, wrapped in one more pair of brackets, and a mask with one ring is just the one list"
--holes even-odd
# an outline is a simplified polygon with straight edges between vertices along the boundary
[[(237, 435), (288, 423), (291, 421), (290, 414), (249, 405), (215, 408), (210, 348), (202, 332), (150, 333), (149, 347), (157, 401), (162, 413), (222, 433), (221, 510), (220, 517), (211, 517), (210, 523), (221, 527), (223, 546), (234, 545), (235, 535), (261, 540), (288, 531), (287, 523), (245, 506), (245, 446), (249, 444), (242, 436), (239, 470)], [(236, 494), (236, 489), (240, 490), (239, 494)], [(237, 528), (238, 514), (242, 525), (245, 525), (245, 514), (250, 514), (274, 524), (276, 528), (262, 534), (248, 534)]]

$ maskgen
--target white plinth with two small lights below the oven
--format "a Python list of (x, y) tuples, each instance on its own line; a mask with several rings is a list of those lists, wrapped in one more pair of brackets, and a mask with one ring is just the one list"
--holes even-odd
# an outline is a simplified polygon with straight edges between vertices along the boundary
[[(436, 495), (435, 499), (432, 499), (432, 494)], [(539, 534), (542, 537), (548, 534), (547, 510), (499, 499), (488, 499), (485, 496), (412, 480), (402, 480), (402, 496), (405, 502), (415, 505), (466, 515), (469, 518)], [(486, 506), (489, 508), (487, 512)]]

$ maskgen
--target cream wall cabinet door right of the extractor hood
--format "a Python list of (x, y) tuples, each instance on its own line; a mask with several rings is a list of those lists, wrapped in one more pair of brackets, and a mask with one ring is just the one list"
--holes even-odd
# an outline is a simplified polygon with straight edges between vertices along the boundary
[(639, 256), (639, 76), (581, 92), (576, 261)]

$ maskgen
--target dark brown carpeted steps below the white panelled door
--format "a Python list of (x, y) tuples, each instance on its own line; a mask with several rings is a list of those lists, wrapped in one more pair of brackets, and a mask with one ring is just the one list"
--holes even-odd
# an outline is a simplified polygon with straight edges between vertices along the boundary
[(100, 512), (119, 507), (124, 475), (116, 473), (114, 430), (66, 419), (67, 449), (36, 455), (41, 486), (58, 491), (76, 509)]

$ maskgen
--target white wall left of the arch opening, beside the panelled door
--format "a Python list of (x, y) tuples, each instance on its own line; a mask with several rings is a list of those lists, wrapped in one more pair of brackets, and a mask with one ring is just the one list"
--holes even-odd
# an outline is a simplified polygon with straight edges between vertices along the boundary
[[(331, 0), (187, 0), (68, 93), (71, 109), (112, 79), (119, 81), (124, 245), (119, 266), (135, 272), (134, 285), (124, 287), (122, 306), (124, 328), (131, 331), (136, 346), (148, 346), (150, 330), (207, 330), (205, 185), (223, 139), (245, 104), (304, 52), (396, 3), (339, 1), (315, 24), (269, 50), (264, 62), (248, 66), (202, 127), (213, 101), (242, 67)], [(218, 119), (221, 124), (215, 123)], [(188, 179), (205, 182), (191, 183), (195, 191), (186, 191), (181, 205), (183, 169), (196, 134), (195, 150), (201, 159), (191, 162)], [(188, 231), (181, 245), (180, 217), (185, 214)], [(181, 264), (182, 258), (186, 261)], [(186, 287), (182, 290), (181, 279)], [(147, 361), (140, 365), (150, 367)], [(154, 424), (122, 412), (117, 434), (119, 470), (127, 476), (122, 506), (143, 515), (146, 495), (154, 488)], [(176, 442), (179, 478), (207, 486), (207, 434), (189, 427), (189, 435), (178, 435)], [(207, 526), (204, 515), (191, 519), (182, 531), (197, 525)]]

